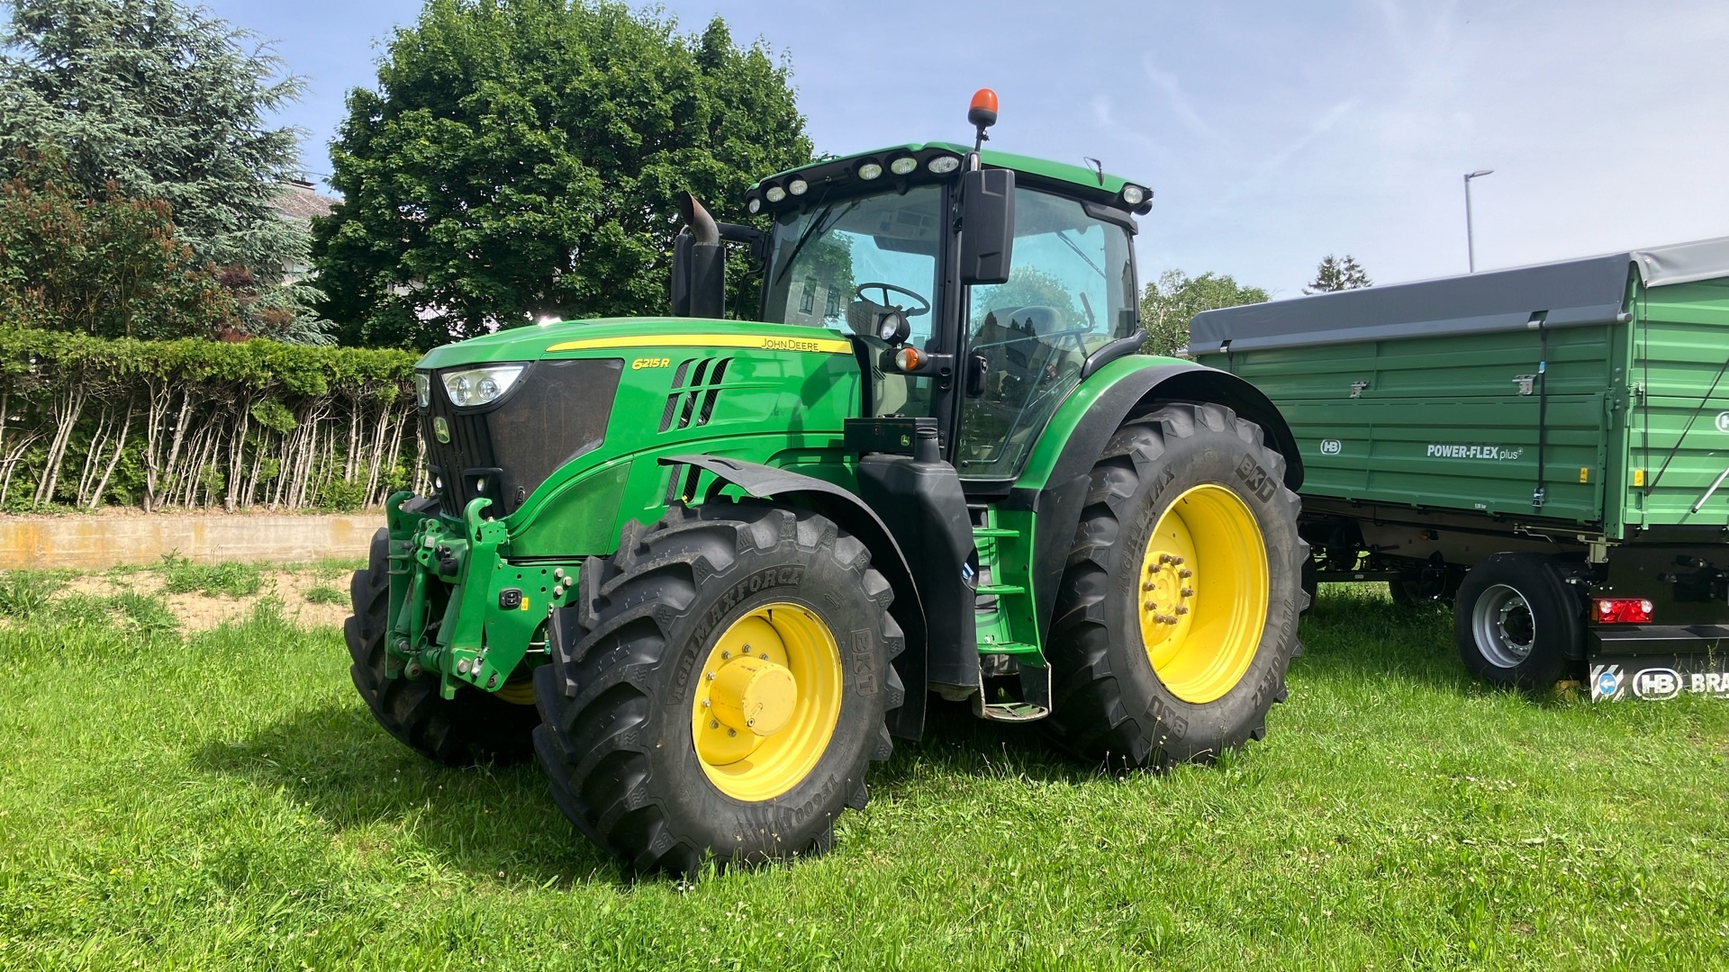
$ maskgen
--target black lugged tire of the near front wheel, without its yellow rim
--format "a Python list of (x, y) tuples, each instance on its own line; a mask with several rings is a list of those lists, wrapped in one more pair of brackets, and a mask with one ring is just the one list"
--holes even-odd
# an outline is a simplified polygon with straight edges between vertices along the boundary
[[(828, 849), (835, 816), (870, 796), (866, 766), (892, 752), (885, 714), (904, 695), (889, 664), (904, 647), (894, 593), (870, 550), (807, 510), (718, 500), (628, 524), (579, 585), (581, 636), (552, 645), (534, 678), (534, 744), (565, 816), (638, 872)], [(842, 633), (839, 716), (788, 790), (737, 799), (697, 756), (695, 676), (738, 619), (785, 602)]]

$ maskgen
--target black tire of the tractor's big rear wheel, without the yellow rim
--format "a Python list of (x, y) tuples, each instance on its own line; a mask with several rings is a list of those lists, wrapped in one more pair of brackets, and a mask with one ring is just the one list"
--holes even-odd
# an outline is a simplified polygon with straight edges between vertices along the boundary
[[(1297, 495), (1260, 427), (1217, 405), (1165, 405), (1117, 429), (1093, 467), (1088, 505), (1051, 624), (1056, 742), (1110, 770), (1212, 761), (1266, 735), (1307, 607)], [(1153, 671), (1141, 636), (1141, 559), (1158, 517), (1186, 489), (1214, 484), (1254, 514), (1267, 555), (1267, 616), (1254, 655), (1217, 699), (1188, 702)]]

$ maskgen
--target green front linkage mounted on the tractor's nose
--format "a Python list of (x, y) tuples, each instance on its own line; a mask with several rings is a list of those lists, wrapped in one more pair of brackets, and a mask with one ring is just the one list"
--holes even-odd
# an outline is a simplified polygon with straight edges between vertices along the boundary
[[(387, 678), (437, 673), (439, 695), (462, 687), (531, 700), (522, 661), (546, 654), (546, 621), (576, 585), (577, 562), (514, 566), (505, 524), (484, 515), (491, 500), (470, 500), (462, 524), (389, 498)], [(517, 678), (512, 678), (512, 676)]]

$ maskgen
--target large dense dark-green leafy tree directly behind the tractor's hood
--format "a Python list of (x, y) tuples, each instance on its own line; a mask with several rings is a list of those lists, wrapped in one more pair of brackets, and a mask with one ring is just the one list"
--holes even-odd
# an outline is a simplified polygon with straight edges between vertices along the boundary
[(809, 161), (787, 66), (614, 0), (429, 0), (348, 97), (315, 266), (344, 341), (427, 348), (666, 304), (676, 194)]

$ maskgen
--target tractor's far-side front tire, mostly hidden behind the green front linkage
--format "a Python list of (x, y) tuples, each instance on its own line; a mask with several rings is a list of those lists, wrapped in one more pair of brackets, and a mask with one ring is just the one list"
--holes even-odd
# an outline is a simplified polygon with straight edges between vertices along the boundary
[(539, 723), (534, 706), (515, 706), (475, 688), (460, 688), (455, 699), (437, 692), (437, 678), (387, 678), (384, 675), (384, 628), (389, 623), (389, 533), (372, 538), (365, 571), (354, 571), (349, 597), (354, 614), (342, 624), (349, 675), (384, 732), (403, 745), (444, 763), (520, 763), (534, 752), (533, 732)]

